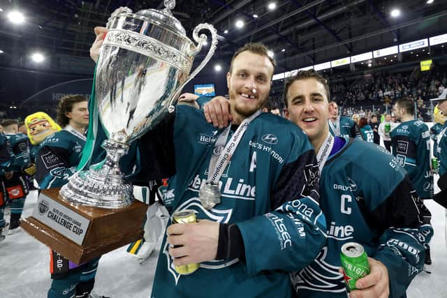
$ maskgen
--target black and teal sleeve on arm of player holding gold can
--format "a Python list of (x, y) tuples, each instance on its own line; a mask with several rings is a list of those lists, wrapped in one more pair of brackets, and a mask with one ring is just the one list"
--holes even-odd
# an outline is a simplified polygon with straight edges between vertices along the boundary
[(314, 150), (293, 149), (301, 154), (282, 168), (270, 194), (272, 211), (237, 223), (249, 276), (263, 270), (300, 270), (314, 260), (325, 242)]

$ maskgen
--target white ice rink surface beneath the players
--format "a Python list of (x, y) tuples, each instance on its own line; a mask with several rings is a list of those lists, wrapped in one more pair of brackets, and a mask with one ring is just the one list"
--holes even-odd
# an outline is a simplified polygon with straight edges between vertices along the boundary
[[(31, 215), (36, 199), (37, 191), (31, 191), (22, 217)], [(430, 244), (433, 264), (427, 267), (432, 273), (418, 274), (407, 295), (409, 298), (446, 298), (446, 209), (431, 200), (426, 204), (433, 216), (434, 237)], [(150, 297), (157, 256), (158, 251), (140, 265), (126, 253), (126, 246), (103, 255), (94, 291), (112, 298)], [(26, 232), (6, 236), (0, 242), (0, 297), (45, 298), (51, 282), (49, 260), (49, 249)]]

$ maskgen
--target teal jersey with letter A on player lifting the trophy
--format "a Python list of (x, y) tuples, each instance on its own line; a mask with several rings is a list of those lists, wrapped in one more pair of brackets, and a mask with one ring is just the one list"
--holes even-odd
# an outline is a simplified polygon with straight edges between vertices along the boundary
[(138, 141), (133, 181), (168, 177), (174, 165), (163, 195), (168, 210), (193, 209), (199, 219), (235, 223), (244, 244), (244, 260), (204, 262), (180, 276), (165, 235), (151, 297), (291, 297), (289, 272), (309, 265), (323, 247), (314, 149), (298, 126), (270, 113), (249, 124), (235, 149), (219, 183), (221, 204), (203, 208), (198, 191), (221, 131), (203, 111), (177, 105)]

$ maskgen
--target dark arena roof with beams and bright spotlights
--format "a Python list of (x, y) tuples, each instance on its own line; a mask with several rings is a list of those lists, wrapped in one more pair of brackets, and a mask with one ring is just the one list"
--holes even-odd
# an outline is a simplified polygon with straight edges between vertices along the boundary
[[(228, 64), (237, 47), (251, 41), (268, 45), (277, 59), (277, 70), (287, 71), (447, 33), (447, 24), (442, 22), (447, 16), (445, 0), (176, 2), (174, 15), (189, 36), (200, 22), (217, 28), (219, 46), (213, 61), (223, 65)], [(128, 6), (134, 11), (161, 9), (163, 1), (2, 0), (0, 65), (31, 67), (27, 57), (31, 51), (38, 50), (61, 70), (82, 72), (82, 68), (91, 68), (88, 57), (94, 40), (93, 28), (104, 26), (119, 6)], [(392, 12), (397, 9), (400, 15), (393, 17)], [(8, 13), (12, 10), (24, 15), (22, 24), (8, 22)], [(236, 27), (238, 21), (240, 28)]]

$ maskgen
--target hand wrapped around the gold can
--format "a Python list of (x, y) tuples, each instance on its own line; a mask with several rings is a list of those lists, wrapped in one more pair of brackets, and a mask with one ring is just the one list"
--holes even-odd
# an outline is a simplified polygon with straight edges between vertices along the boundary
[[(198, 223), (175, 223), (166, 230), (169, 254), (174, 265), (182, 266), (214, 260), (219, 243), (219, 223), (202, 220)], [(176, 246), (176, 247), (174, 247)]]

